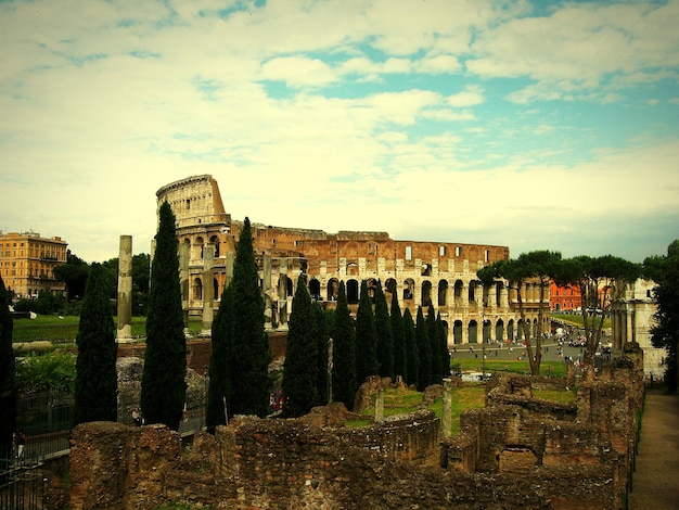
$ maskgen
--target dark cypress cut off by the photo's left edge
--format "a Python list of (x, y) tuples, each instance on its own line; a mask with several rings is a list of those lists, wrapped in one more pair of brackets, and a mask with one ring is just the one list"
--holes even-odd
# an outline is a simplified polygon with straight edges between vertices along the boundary
[(9, 308), (11, 302), (10, 292), (0, 277), (0, 454), (8, 455), (11, 451), (12, 434), (16, 432), (15, 361), (12, 348), (14, 323)]

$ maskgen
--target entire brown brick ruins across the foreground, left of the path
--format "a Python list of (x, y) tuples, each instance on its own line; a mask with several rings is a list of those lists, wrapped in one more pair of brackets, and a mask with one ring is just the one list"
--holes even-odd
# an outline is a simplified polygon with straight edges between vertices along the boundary
[[(72, 436), (69, 508), (619, 509), (630, 488), (642, 356), (578, 386), (572, 404), (535, 398), (566, 380), (500, 377), (486, 408), (443, 437), (433, 412), (344, 426), (340, 404), (300, 419), (236, 417), (182, 447), (162, 425), (94, 422)], [(376, 383), (375, 383), (376, 384)], [(377, 385), (379, 386), (379, 385)]]

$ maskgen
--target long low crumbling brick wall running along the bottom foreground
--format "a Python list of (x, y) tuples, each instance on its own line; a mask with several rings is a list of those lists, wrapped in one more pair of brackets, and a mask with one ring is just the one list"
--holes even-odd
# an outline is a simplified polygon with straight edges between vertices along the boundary
[[(408, 443), (417, 446), (423, 430), (405, 429), (392, 430), (394, 442), (412, 434)], [(86, 423), (72, 439), (69, 508), (551, 508), (511, 477), (399, 460), (357, 446), (357, 437), (300, 420), (236, 417), (214, 437), (198, 433), (182, 455), (179, 437), (163, 425)]]

